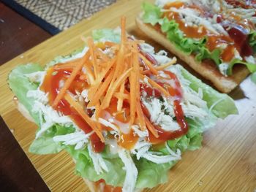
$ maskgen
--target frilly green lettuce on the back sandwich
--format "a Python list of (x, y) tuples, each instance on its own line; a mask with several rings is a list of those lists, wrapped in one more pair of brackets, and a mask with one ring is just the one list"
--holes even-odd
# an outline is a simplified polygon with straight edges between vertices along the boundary
[[(187, 53), (187, 55), (195, 55), (195, 59), (198, 62), (208, 58), (214, 61), (217, 66), (223, 63), (220, 59), (220, 54), (222, 53), (222, 50), (215, 49), (211, 52), (206, 47), (207, 37), (204, 37), (202, 39), (184, 37), (184, 33), (178, 28), (178, 23), (176, 23), (175, 20), (161, 18), (161, 9), (154, 4), (144, 3), (143, 11), (143, 22), (151, 23), (151, 25), (153, 26), (156, 23), (159, 23), (161, 25), (161, 30), (166, 34), (167, 39), (169, 39), (170, 42), (174, 43), (176, 47), (182, 52)], [(254, 53), (256, 53), (256, 31), (250, 32), (249, 45), (252, 46)], [(256, 72), (256, 65), (234, 59), (230, 62), (227, 75), (232, 74), (232, 69), (235, 64), (244, 64), (250, 72)]]

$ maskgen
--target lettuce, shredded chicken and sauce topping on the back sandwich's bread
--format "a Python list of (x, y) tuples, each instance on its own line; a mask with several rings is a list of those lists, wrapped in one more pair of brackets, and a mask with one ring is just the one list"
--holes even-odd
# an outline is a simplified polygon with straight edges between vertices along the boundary
[(232, 74), (234, 64), (256, 72), (256, 12), (242, 7), (224, 0), (159, 0), (156, 6), (143, 4), (143, 22), (196, 61), (213, 62), (225, 76)]

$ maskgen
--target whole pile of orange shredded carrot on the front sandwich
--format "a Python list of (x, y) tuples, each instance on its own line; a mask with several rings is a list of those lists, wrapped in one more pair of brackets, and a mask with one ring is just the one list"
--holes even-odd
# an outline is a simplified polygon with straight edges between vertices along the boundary
[[(94, 45), (91, 37), (87, 40), (83, 38), (89, 47), (86, 55), (83, 58), (69, 61), (66, 64), (58, 64), (54, 67), (54, 69), (68, 69), (72, 73), (53, 101), (53, 107), (56, 107), (61, 99), (66, 99), (78, 114), (86, 120), (102, 142), (104, 142), (104, 137), (101, 132), (101, 124), (91, 120), (84, 111), (83, 106), (75, 101), (68, 92), (75, 77), (79, 75), (80, 80), (87, 80), (90, 85), (88, 90), (89, 104), (87, 107), (95, 107), (96, 120), (99, 119), (106, 108), (110, 107), (110, 102), (115, 97), (117, 99), (117, 112), (123, 110), (124, 100), (129, 103), (129, 125), (138, 124), (141, 130), (148, 128), (148, 131), (154, 137), (159, 137), (157, 129), (143, 114), (140, 104), (140, 79), (148, 78), (148, 82), (153, 88), (161, 91), (165, 96), (170, 96), (170, 93), (164, 87), (145, 74), (157, 75), (159, 70), (176, 63), (176, 58), (162, 66), (154, 66), (145, 55), (139, 53), (138, 44), (143, 41), (127, 38), (125, 23), (126, 18), (122, 17), (120, 44), (105, 42)], [(111, 58), (103, 53), (102, 50), (105, 48), (110, 48), (115, 56)], [(139, 59), (143, 60), (148, 70), (143, 70), (140, 67)], [(86, 71), (83, 70), (82, 72), (82, 68)], [(127, 82), (129, 82), (129, 91), (126, 88)]]

